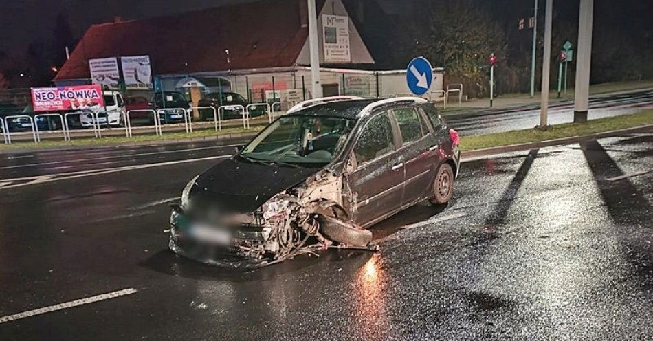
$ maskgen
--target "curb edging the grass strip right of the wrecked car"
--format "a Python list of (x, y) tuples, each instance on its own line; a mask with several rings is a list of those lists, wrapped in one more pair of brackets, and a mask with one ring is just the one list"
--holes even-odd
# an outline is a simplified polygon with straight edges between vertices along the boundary
[(535, 148), (560, 146), (564, 144), (572, 144), (575, 142), (581, 142), (585, 140), (595, 140), (598, 138), (615, 136), (622, 133), (638, 133), (639, 131), (646, 131), (648, 129), (653, 129), (653, 124), (645, 124), (643, 126), (633, 126), (632, 128), (624, 128), (624, 129), (613, 130), (613, 131), (604, 131), (602, 133), (594, 133), (590, 135), (562, 137), (555, 140), (528, 142), (522, 144), (511, 144), (509, 146), (498, 146), (498, 147), (491, 147), (485, 149), (476, 149), (474, 151), (463, 151), (463, 155), (461, 159), (465, 160), (465, 159), (470, 159), (472, 157), (496, 155), (502, 153), (509, 153), (511, 151), (526, 151)]

